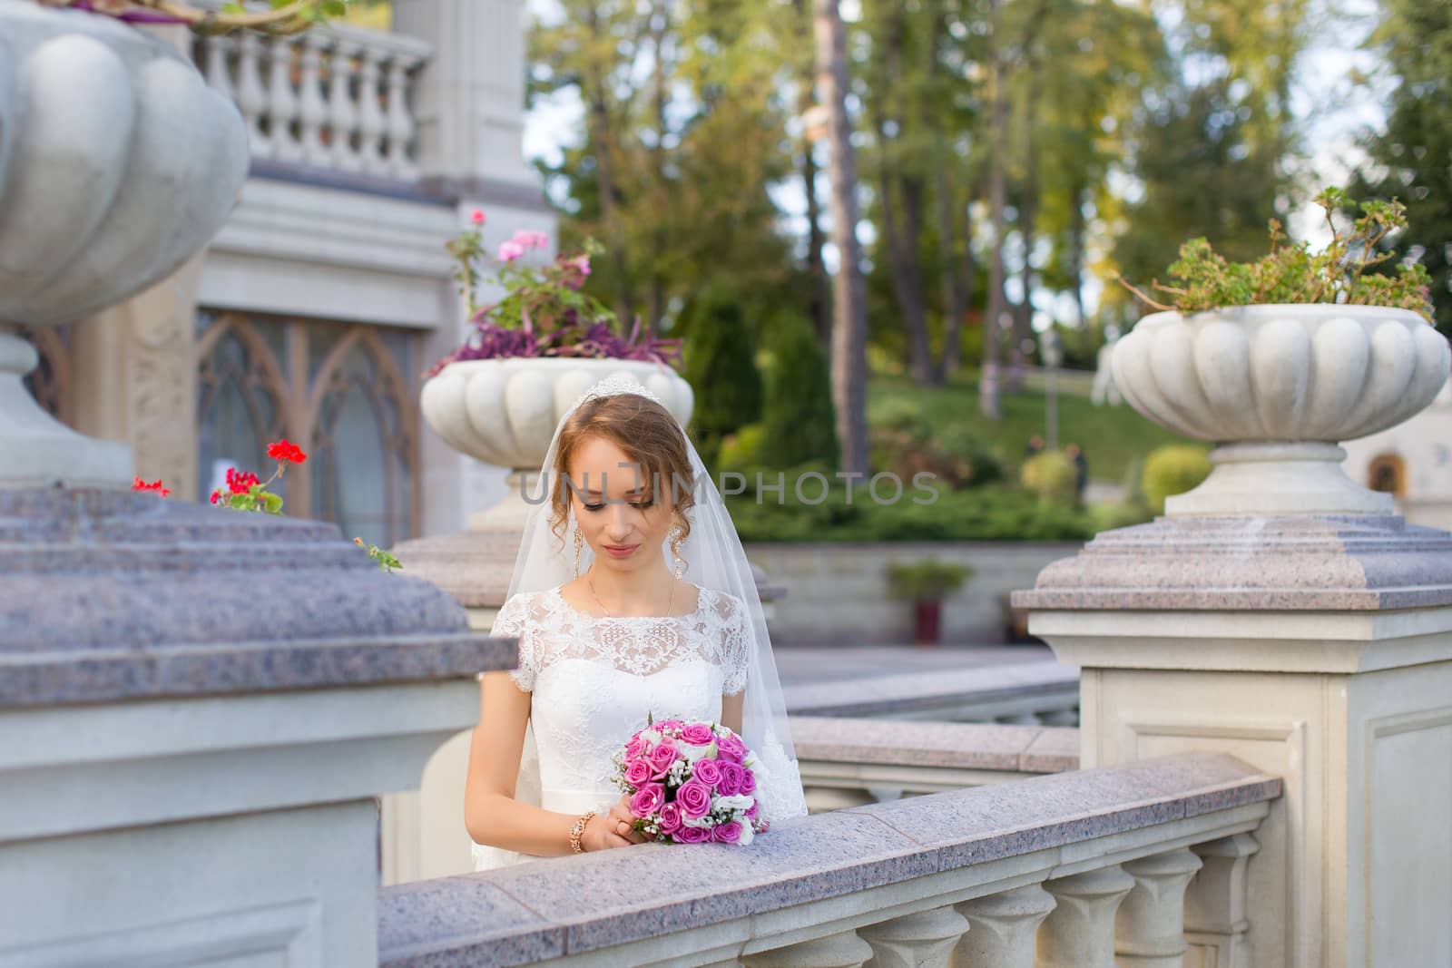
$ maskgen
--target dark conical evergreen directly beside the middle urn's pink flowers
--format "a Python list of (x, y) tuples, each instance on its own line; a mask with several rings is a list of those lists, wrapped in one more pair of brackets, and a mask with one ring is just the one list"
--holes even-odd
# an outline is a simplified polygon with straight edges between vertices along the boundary
[(691, 435), (706, 466), (720, 459), (722, 440), (761, 419), (761, 374), (741, 303), (709, 290), (690, 312), (685, 379), (696, 390)]

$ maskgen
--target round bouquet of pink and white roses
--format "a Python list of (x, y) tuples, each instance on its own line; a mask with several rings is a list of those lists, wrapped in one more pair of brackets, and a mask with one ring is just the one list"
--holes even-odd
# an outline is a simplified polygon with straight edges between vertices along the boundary
[(756, 756), (719, 723), (648, 718), (613, 759), (648, 839), (745, 846), (770, 826), (756, 808)]

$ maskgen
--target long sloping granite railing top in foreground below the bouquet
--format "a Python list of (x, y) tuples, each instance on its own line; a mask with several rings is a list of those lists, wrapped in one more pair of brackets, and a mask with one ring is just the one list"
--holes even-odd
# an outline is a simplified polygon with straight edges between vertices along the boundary
[(389, 968), (518, 965), (1265, 803), (1218, 753), (816, 814), (749, 848), (643, 845), (383, 888)]

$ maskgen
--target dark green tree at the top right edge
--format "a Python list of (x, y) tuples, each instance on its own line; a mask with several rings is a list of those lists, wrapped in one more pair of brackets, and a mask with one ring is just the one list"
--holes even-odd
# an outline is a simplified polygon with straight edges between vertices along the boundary
[(1366, 141), (1371, 164), (1352, 190), (1407, 206), (1395, 251), (1427, 267), (1436, 327), (1452, 335), (1452, 6), (1388, 0), (1374, 42), (1395, 89), (1387, 131)]

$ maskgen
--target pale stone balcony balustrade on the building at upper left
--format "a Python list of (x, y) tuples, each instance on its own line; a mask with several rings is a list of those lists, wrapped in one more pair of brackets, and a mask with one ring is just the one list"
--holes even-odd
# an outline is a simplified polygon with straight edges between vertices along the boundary
[(254, 158), (418, 179), (414, 77), (424, 41), (335, 23), (295, 36), (208, 36), (193, 57), (237, 102)]

